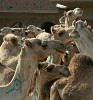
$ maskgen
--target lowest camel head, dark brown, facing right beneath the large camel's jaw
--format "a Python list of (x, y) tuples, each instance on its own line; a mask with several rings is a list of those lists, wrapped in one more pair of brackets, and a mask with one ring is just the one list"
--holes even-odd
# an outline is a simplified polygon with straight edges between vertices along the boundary
[(63, 76), (69, 76), (70, 72), (67, 67), (64, 65), (59, 64), (53, 64), (53, 63), (47, 63), (47, 62), (40, 62), (38, 65), (38, 69), (42, 72), (46, 72), (48, 74), (59, 74)]

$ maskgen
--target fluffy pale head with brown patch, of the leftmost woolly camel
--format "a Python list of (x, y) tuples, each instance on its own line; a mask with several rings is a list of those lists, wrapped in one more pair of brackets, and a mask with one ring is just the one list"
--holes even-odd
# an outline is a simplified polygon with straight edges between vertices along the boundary
[(21, 38), (15, 36), (14, 34), (7, 34), (3, 37), (3, 42), (1, 44), (0, 50), (1, 51), (10, 51), (11, 53), (20, 51), (21, 48)]

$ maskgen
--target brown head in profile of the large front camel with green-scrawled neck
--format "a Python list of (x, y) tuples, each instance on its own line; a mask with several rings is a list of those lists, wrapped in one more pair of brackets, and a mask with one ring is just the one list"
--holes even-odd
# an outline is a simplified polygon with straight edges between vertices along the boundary
[(34, 59), (39, 61), (57, 52), (64, 53), (66, 50), (66, 47), (58, 40), (42, 41), (37, 38), (31, 38), (25, 40), (25, 45), (28, 47), (31, 56), (33, 55)]

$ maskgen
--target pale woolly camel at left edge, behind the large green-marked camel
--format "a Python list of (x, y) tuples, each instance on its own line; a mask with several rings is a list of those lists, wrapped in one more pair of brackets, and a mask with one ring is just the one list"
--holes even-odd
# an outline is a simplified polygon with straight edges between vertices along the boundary
[(0, 62), (15, 70), (21, 47), (21, 39), (18, 36), (14, 34), (5, 35), (0, 46)]

